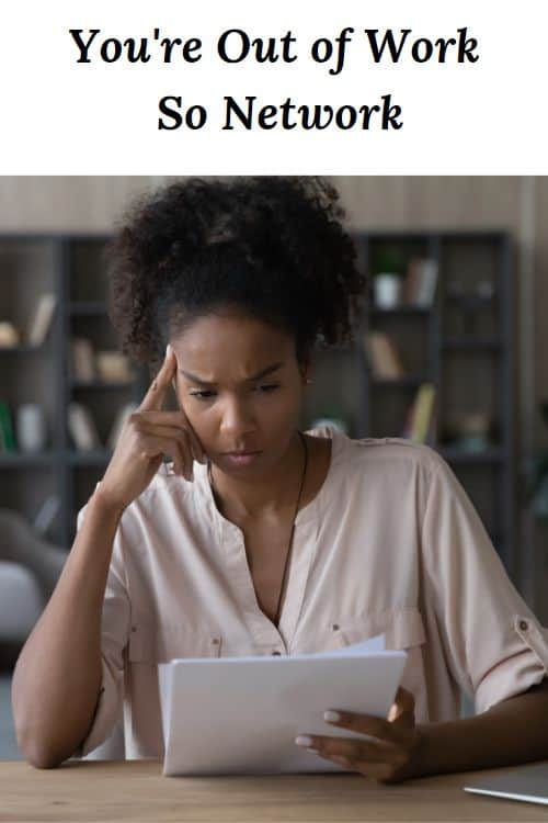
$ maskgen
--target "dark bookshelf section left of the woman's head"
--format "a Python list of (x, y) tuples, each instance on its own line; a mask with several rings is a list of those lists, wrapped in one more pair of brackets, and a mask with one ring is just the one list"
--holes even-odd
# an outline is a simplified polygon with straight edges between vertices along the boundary
[(146, 383), (135, 369), (126, 383), (90, 383), (71, 377), (70, 339), (87, 337), (101, 349), (115, 349), (106, 314), (103, 251), (105, 236), (33, 235), (0, 237), (0, 319), (27, 328), (38, 297), (56, 296), (56, 308), (42, 346), (0, 348), (0, 396), (8, 401), (15, 425), (22, 403), (42, 406), (47, 428), (39, 453), (0, 453), (1, 506), (20, 511), (31, 522), (55, 495), (59, 508), (46, 538), (70, 548), (76, 515), (106, 467), (111, 451), (78, 452), (67, 426), (70, 402), (91, 410), (101, 440), (106, 441), (121, 404), (138, 402)]

